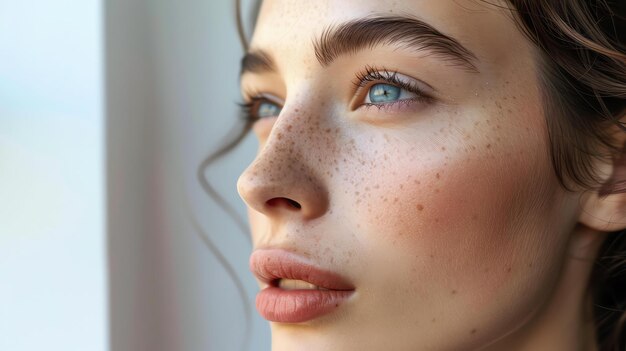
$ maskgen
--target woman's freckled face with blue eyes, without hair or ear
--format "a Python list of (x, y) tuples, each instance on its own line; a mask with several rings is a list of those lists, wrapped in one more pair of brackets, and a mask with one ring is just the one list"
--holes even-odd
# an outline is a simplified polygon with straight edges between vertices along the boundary
[(541, 313), (578, 210), (502, 5), (263, 2), (238, 188), (275, 350), (469, 350)]

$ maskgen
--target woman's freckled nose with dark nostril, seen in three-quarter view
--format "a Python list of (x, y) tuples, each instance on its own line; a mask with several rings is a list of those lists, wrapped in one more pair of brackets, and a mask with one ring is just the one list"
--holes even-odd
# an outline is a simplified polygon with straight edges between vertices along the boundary
[(298, 132), (298, 119), (288, 114), (283, 109), (265, 146), (239, 177), (237, 190), (249, 207), (268, 217), (311, 220), (326, 213), (329, 205), (320, 145), (310, 137), (313, 129), (300, 125)]

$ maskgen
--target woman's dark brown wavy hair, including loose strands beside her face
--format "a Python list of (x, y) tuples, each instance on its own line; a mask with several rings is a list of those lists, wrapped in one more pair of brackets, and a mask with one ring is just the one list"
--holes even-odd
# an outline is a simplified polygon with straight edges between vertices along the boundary
[[(602, 196), (626, 192), (626, 179), (610, 177), (601, 184), (594, 169), (594, 160), (607, 162), (626, 154), (626, 145), (619, 144), (622, 138), (616, 138), (616, 131), (626, 131), (620, 121), (626, 114), (626, 3), (619, 1), (508, 0), (520, 30), (539, 49), (552, 164), (570, 191), (596, 190)], [(260, 1), (255, 4), (253, 23)], [(236, 5), (237, 29), (247, 49), (240, 0)], [(249, 123), (241, 127), (198, 169), (205, 190), (222, 205), (204, 170), (250, 129)], [(610, 233), (604, 242), (589, 292), (599, 351), (626, 350), (626, 231)]]

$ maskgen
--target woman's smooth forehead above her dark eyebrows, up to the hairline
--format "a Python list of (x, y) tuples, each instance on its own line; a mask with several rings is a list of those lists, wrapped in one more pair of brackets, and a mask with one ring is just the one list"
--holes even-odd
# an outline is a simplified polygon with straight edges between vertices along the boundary
[(371, 16), (420, 19), (475, 53), (481, 71), (495, 73), (532, 56), (508, 3), (481, 0), (264, 0), (251, 47), (270, 53), (279, 67), (314, 66), (313, 43), (325, 30)]

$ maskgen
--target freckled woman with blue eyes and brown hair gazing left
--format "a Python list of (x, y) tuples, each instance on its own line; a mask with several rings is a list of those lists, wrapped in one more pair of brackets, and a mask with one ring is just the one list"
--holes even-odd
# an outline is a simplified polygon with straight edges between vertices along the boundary
[(272, 349), (624, 350), (619, 10), (263, 1), (238, 190)]

